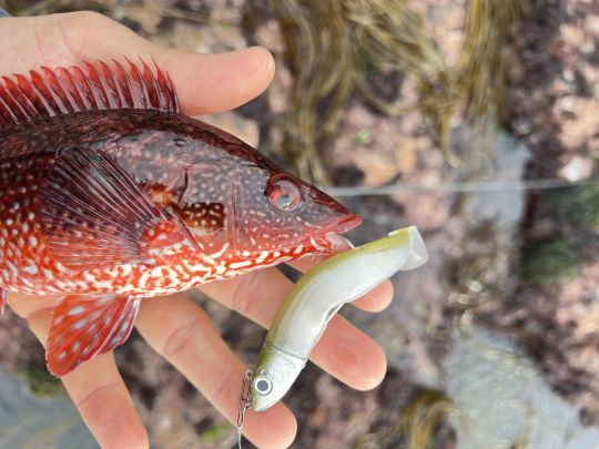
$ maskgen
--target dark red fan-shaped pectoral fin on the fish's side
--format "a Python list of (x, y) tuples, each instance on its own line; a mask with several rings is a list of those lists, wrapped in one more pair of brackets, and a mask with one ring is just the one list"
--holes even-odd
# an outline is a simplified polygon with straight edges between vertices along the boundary
[[(45, 243), (73, 271), (151, 264), (149, 246), (160, 249), (182, 235), (180, 221), (101, 152), (64, 151), (39, 198)], [(159, 231), (161, 241), (152, 238)]]

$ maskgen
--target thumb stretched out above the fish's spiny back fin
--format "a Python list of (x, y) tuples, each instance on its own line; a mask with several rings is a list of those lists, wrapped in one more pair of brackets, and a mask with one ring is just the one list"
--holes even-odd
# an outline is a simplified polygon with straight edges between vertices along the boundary
[[(139, 37), (128, 28), (99, 14), (60, 18), (64, 39), (78, 42), (79, 60), (140, 55), (152, 58), (172, 78), (181, 106), (187, 114), (226, 111), (260, 95), (274, 75), (274, 59), (254, 47), (221, 54), (200, 54), (165, 49)], [(94, 32), (89, 29), (94, 28)]]

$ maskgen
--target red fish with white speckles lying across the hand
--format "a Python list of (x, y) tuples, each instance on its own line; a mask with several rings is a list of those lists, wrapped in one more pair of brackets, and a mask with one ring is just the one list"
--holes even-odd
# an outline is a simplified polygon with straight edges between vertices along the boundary
[(0, 309), (62, 294), (48, 368), (129, 337), (142, 298), (338, 248), (361, 218), (238, 139), (182, 115), (145, 63), (0, 82)]

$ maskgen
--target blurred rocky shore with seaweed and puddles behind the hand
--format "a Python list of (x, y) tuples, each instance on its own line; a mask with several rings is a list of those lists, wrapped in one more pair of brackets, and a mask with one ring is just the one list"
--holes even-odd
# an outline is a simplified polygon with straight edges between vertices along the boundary
[[(94, 10), (200, 52), (264, 45), (277, 61), (268, 91), (203, 120), (363, 215), (356, 244), (420, 228), (430, 259), (394, 279), (389, 309), (342, 312), (385, 348), (385, 381), (356, 392), (308, 365), (286, 398), (294, 447), (599, 447), (597, 0), (0, 7)], [(264, 330), (196, 296), (255, 361)], [(95, 447), (10, 312), (0, 348), (0, 447)], [(153, 447), (236, 442), (138, 335), (116, 359)]]

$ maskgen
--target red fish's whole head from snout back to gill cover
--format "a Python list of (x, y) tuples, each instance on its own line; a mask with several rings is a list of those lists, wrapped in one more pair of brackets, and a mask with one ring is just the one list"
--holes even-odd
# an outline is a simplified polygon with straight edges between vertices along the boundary
[(233, 135), (179, 120), (197, 135), (170, 150), (174, 164), (161, 165), (164, 172), (181, 164), (174, 181), (164, 183), (171, 195), (165, 202), (207, 254), (245, 271), (347, 248), (339, 234), (359, 225), (361, 217)]

